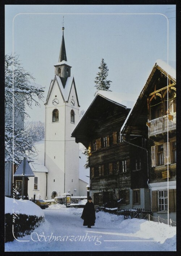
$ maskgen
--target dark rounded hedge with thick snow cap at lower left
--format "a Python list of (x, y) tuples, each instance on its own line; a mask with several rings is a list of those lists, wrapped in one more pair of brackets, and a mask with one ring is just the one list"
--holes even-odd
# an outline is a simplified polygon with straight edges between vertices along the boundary
[(5, 242), (29, 235), (44, 221), (44, 216), (32, 201), (5, 197)]

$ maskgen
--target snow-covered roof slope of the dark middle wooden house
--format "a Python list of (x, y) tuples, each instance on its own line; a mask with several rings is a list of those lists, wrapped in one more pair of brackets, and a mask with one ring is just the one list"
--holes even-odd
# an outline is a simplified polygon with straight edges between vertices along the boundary
[(118, 103), (126, 108), (132, 108), (136, 95), (134, 93), (124, 93), (124, 92), (110, 92), (100, 90), (97, 95), (104, 97), (105, 99), (112, 101), (113, 103)]

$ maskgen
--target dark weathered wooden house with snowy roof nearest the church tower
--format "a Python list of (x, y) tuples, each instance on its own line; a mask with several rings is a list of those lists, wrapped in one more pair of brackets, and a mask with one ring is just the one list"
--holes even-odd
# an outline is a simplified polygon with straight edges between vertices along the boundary
[[(125, 97), (128, 99), (129, 95)], [(94, 205), (109, 201), (116, 204), (121, 199), (119, 204), (123, 208), (132, 208), (130, 145), (120, 136), (129, 112), (123, 93), (98, 91), (72, 133), (76, 142), (88, 149), (90, 195)]]

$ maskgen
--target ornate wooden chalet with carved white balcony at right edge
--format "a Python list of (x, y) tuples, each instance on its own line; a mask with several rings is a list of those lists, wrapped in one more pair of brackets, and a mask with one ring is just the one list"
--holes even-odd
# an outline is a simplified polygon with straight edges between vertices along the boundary
[[(148, 186), (151, 193), (151, 210), (154, 216), (176, 220), (176, 72), (158, 60), (121, 128), (128, 143), (145, 149), (144, 167), (147, 168)], [(142, 139), (139, 136), (142, 135)], [(144, 140), (144, 145), (143, 145)], [(139, 141), (139, 142), (138, 142)], [(139, 143), (139, 144), (138, 144)], [(134, 148), (134, 145), (131, 145)], [(133, 151), (132, 151), (133, 152)], [(131, 188), (145, 185), (146, 170), (134, 170), (134, 155), (131, 159)], [(148, 160), (147, 159), (148, 156)], [(147, 163), (146, 163), (147, 162)], [(140, 165), (142, 166), (142, 160)], [(138, 166), (138, 160), (137, 160)], [(142, 184), (141, 184), (142, 183)], [(145, 187), (146, 188), (146, 187)]]

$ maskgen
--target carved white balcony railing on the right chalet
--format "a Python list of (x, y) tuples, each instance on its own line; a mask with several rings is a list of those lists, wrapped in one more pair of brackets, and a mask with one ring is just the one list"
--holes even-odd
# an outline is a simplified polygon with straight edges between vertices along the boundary
[(163, 117), (158, 117), (153, 120), (148, 120), (150, 127), (148, 126), (148, 135), (156, 135), (159, 133), (167, 132), (176, 129), (176, 112)]

